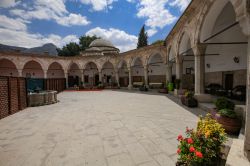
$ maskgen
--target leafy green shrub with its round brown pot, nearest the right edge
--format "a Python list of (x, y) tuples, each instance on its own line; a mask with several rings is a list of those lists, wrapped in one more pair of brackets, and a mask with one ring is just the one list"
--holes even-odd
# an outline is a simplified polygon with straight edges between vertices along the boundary
[(215, 105), (214, 119), (222, 125), (228, 134), (238, 134), (241, 129), (241, 121), (234, 111), (235, 104), (222, 97), (216, 100)]

